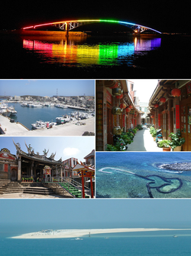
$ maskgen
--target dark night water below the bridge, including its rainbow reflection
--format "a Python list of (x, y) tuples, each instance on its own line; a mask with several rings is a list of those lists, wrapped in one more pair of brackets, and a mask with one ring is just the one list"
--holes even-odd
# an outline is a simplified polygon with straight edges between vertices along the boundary
[(189, 77), (191, 37), (2, 36), (1, 78)]

